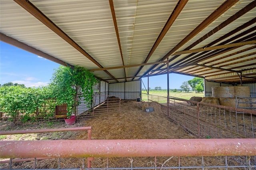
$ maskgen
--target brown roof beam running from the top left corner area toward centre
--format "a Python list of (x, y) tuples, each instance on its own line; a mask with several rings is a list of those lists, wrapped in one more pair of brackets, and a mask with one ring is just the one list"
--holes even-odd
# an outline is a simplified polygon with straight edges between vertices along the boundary
[[(52, 22), (46, 15), (44, 15), (34, 4), (32, 4), (29, 0), (14, 0), (17, 4), (19, 4), (22, 8), (24, 8), (27, 12), (32, 14), (36, 19), (38, 19), (40, 22), (42, 22), (45, 26), (50, 28), (54, 33), (56, 33), (58, 36), (60, 36), (63, 40), (65, 40), (67, 43), (69, 43), (72, 47), (74, 47), (76, 50), (78, 50), (80, 53), (82, 53), (84, 56), (86, 56), (90, 61), (92, 61), (94, 64), (96, 64), (98, 67), (103, 68), (100, 63), (98, 63), (92, 56), (90, 56), (82, 47), (80, 47), (74, 40), (72, 40), (66, 33), (64, 33), (54, 22)], [(108, 71), (105, 70), (105, 72), (118, 81), (113, 75), (111, 75)]]

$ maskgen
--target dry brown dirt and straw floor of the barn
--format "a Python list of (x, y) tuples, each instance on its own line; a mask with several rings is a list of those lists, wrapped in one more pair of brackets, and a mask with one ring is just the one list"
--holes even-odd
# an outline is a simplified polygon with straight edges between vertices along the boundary
[[(30, 123), (14, 125), (8, 121), (1, 121), (1, 131), (25, 130), (60, 127), (92, 126), (92, 139), (171, 139), (196, 138), (188, 134), (178, 125), (172, 123), (160, 109), (154, 106), (154, 112), (142, 111), (142, 103), (137, 101), (121, 101), (119, 114), (100, 115), (90, 119), (78, 120), (74, 125), (66, 125), (64, 121)], [(1, 140), (61, 140), (87, 139), (87, 132), (53, 132), (41, 134), (6, 135)], [(76, 146), (74, 146), (76, 147)], [(79, 149), (79, 148), (77, 148)], [(236, 165), (240, 158), (228, 157), (227, 162)], [(3, 159), (2, 159), (3, 160)], [(61, 158), (60, 168), (82, 168), (82, 158)], [(84, 167), (87, 167), (85, 159)], [(156, 162), (158, 167), (178, 166), (178, 157), (134, 157), (134, 158), (94, 158), (92, 168), (114, 167), (152, 167)], [(58, 168), (58, 159), (37, 160), (36, 168)], [(204, 157), (204, 166), (225, 165), (225, 157)], [(202, 157), (181, 157), (180, 166), (202, 166)], [(34, 161), (13, 162), (12, 168), (33, 168)], [(0, 168), (9, 168), (8, 163), (0, 164)], [(186, 169), (186, 168), (184, 168)], [(198, 169), (198, 168), (194, 168)], [(202, 168), (200, 168), (202, 169)], [(214, 169), (214, 168), (211, 168)], [(221, 168), (220, 168), (221, 169)], [(225, 169), (225, 168), (222, 168)]]

